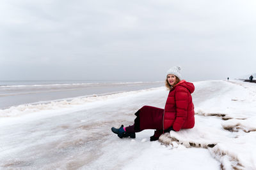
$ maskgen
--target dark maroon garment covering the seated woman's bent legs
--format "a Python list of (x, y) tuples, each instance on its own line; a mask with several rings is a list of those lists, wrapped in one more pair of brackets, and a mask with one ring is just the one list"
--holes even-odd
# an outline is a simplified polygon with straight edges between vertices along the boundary
[(134, 124), (125, 127), (127, 132), (140, 132), (145, 129), (156, 129), (155, 135), (159, 137), (163, 134), (163, 113), (164, 110), (152, 106), (143, 106), (135, 115)]

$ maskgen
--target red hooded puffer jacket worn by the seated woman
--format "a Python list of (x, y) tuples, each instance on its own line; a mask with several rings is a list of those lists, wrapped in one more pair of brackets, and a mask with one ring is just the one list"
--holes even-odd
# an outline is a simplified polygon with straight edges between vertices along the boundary
[(193, 83), (185, 80), (180, 81), (170, 90), (163, 117), (163, 127), (173, 127), (174, 131), (191, 129), (195, 125), (195, 111), (191, 93), (195, 87)]

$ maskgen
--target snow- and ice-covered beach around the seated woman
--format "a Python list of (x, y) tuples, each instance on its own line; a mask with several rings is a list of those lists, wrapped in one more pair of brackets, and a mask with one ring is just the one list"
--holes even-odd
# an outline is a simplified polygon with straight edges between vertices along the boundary
[(0, 168), (256, 169), (256, 84), (194, 85), (195, 127), (154, 142), (153, 130), (120, 139), (110, 128), (164, 108), (164, 87), (0, 110)]

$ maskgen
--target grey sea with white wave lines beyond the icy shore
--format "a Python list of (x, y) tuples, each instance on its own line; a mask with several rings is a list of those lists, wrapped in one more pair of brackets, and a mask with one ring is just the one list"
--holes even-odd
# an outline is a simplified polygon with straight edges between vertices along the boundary
[(164, 81), (18, 80), (0, 81), (0, 110), (22, 104), (42, 104), (163, 87)]

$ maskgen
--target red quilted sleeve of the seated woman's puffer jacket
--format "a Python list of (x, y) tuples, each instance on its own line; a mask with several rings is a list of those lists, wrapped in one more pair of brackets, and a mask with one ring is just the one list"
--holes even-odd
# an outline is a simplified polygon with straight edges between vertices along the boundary
[(175, 92), (176, 118), (173, 123), (174, 131), (180, 131), (188, 115), (188, 89), (177, 87)]

